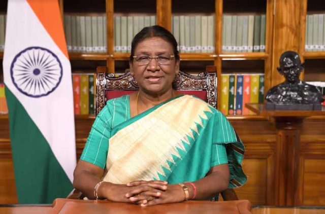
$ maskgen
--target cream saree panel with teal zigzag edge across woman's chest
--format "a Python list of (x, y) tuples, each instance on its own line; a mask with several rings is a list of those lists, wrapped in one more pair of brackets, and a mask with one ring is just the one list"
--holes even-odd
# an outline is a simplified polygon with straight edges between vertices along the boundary
[(103, 180), (115, 184), (167, 180), (194, 144), (194, 135), (212, 113), (210, 108), (198, 98), (183, 95), (115, 127)]

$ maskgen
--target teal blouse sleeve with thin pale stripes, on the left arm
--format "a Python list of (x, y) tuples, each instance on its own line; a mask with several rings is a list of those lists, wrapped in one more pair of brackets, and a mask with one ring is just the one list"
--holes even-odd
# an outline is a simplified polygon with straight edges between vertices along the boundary
[(105, 168), (108, 153), (108, 140), (111, 137), (112, 114), (106, 105), (92, 124), (80, 160)]

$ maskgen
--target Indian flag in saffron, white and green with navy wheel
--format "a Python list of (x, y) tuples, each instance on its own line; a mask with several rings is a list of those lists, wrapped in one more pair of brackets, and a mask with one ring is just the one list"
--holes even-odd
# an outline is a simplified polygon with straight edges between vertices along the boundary
[(3, 60), (19, 203), (73, 189), (71, 66), (57, 0), (9, 0)]

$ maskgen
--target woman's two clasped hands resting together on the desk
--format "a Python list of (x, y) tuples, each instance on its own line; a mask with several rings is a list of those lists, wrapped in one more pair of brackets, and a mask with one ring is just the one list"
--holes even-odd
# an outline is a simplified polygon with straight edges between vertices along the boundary
[(110, 201), (129, 202), (141, 206), (185, 200), (185, 193), (181, 186), (168, 185), (165, 181), (135, 181), (126, 185), (104, 183), (99, 191), (101, 196)]

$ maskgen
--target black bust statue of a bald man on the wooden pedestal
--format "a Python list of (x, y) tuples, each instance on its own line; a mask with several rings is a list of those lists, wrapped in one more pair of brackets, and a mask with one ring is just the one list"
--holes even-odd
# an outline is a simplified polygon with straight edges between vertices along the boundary
[(299, 79), (304, 63), (297, 52), (285, 51), (280, 57), (278, 72), (285, 81), (272, 87), (266, 94), (267, 109), (320, 110), (324, 100), (320, 91)]

